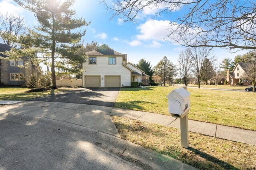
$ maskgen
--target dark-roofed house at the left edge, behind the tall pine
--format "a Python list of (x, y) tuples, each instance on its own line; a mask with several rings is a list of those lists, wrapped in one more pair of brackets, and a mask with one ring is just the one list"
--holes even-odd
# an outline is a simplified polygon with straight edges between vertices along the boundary
[[(11, 47), (0, 43), (0, 52), (10, 51)], [(35, 71), (35, 66), (25, 57), (19, 61), (8, 61), (8, 56), (0, 54), (0, 84), (2, 85), (22, 85), (25, 77)]]

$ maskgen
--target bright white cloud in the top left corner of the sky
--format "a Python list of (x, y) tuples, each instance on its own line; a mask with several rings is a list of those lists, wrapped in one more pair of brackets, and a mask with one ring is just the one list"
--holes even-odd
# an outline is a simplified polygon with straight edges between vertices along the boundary
[(2, 14), (8, 13), (8, 14), (18, 15), (24, 11), (24, 8), (22, 8), (19, 5), (15, 6), (14, 4), (12, 4), (12, 2), (14, 2), (14, 1), (13, 0), (2, 0), (0, 2), (0, 13), (2, 13)]

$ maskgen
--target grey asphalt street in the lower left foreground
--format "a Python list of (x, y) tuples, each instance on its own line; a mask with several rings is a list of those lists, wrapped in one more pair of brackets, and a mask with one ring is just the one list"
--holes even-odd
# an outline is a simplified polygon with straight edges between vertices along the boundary
[(91, 143), (61, 132), (62, 128), (47, 129), (40, 125), (1, 120), (0, 169), (138, 169)]

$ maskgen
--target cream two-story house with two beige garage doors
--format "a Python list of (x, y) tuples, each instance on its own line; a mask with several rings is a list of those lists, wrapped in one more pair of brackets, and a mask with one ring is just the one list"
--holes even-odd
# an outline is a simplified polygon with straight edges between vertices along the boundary
[(83, 63), (83, 87), (126, 87), (131, 82), (149, 79), (143, 71), (132, 63), (127, 63), (127, 55), (114, 51), (107, 45), (86, 53), (88, 60)]

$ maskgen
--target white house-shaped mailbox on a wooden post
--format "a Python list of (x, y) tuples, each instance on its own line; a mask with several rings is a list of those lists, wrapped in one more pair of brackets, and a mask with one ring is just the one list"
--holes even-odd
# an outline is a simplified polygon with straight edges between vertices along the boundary
[(172, 90), (168, 98), (168, 110), (172, 117), (180, 118), (181, 146), (188, 148), (188, 110), (190, 109), (190, 93), (185, 88)]

